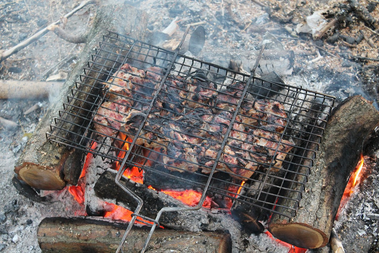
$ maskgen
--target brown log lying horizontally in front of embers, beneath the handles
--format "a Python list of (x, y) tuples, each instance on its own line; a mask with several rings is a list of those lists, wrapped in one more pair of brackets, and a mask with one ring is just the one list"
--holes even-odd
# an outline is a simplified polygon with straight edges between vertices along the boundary
[[(88, 217), (44, 218), (38, 226), (37, 239), (42, 252), (114, 252), (127, 224)], [(133, 228), (123, 252), (139, 252), (149, 228)], [(215, 252), (229, 253), (229, 233), (186, 232), (155, 229), (145, 252)]]

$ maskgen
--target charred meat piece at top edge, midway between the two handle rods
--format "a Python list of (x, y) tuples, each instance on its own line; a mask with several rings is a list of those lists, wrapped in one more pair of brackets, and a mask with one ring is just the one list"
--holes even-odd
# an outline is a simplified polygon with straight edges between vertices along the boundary
[(217, 96), (214, 83), (193, 78), (188, 80), (187, 86), (186, 106), (189, 108), (205, 107)]

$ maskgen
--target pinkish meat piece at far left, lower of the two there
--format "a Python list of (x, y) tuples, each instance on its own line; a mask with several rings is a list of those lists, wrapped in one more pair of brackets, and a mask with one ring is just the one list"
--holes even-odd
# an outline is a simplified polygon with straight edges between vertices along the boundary
[(124, 118), (129, 114), (130, 103), (125, 99), (104, 102), (94, 116), (94, 127), (101, 135), (114, 136), (124, 126)]

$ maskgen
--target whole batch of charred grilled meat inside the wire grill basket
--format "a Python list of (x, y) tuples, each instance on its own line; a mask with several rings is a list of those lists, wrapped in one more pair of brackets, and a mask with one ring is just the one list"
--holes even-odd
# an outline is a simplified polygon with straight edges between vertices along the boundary
[[(100, 106), (95, 129), (112, 137), (122, 130), (135, 138), (147, 117), (136, 144), (154, 151), (157, 163), (171, 171), (210, 173), (245, 84), (232, 83), (216, 92), (215, 85), (206, 80), (169, 76), (146, 115), (161, 74), (157, 67), (143, 70), (124, 64), (108, 81), (112, 102)], [(286, 124), (279, 102), (244, 99), (215, 172), (225, 171), (246, 181), (259, 167), (271, 165), (272, 171), (279, 170), (293, 146), (287, 140), (279, 145)]]

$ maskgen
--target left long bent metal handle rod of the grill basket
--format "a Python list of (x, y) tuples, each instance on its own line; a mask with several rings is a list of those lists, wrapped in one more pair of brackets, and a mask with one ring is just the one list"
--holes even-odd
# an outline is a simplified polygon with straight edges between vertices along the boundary
[[(191, 27), (191, 25), (189, 24), (189, 25), (187, 26), (185, 32), (184, 32), (184, 35), (183, 35), (183, 37), (182, 37), (182, 40), (180, 41), (180, 43), (179, 43), (177, 49), (175, 50), (174, 56), (172, 57), (172, 60), (171, 60), (170, 64), (168, 65), (168, 68), (167, 68), (166, 74), (164, 75), (164, 77), (163, 77), (163, 79), (162, 79), (160, 85), (158, 86), (157, 91), (155, 92), (155, 95), (154, 95), (154, 97), (153, 97), (153, 99), (152, 99), (152, 102), (150, 103), (150, 106), (149, 106), (149, 108), (148, 108), (148, 110), (147, 110), (147, 112), (146, 112), (146, 117), (143, 119), (141, 125), (139, 126), (139, 128), (138, 128), (138, 130), (137, 130), (137, 132), (136, 132), (136, 134), (135, 134), (135, 138), (133, 138), (133, 141), (132, 141), (132, 143), (131, 143), (130, 146), (129, 146), (128, 152), (127, 152), (127, 154), (125, 155), (124, 160), (122, 160), (122, 163), (121, 163), (120, 169), (119, 169), (119, 171), (117, 171), (117, 174), (116, 174), (116, 179), (115, 179), (116, 184), (117, 184), (119, 187), (121, 187), (126, 193), (128, 193), (128, 194), (129, 194), (129, 195), (130, 195), (130, 196), (131, 196), (131, 197), (137, 202), (137, 207), (136, 207), (136, 210), (135, 210), (134, 214), (132, 215), (132, 220), (130, 221), (130, 223), (129, 223), (129, 225), (128, 225), (126, 231), (125, 231), (125, 234), (124, 234), (124, 236), (122, 237), (121, 243), (120, 243), (119, 247), (117, 248), (116, 253), (120, 252), (120, 250), (121, 250), (121, 252), (124, 252), (124, 251), (122, 250), (122, 245), (124, 245), (125, 240), (126, 240), (128, 234), (130, 233), (130, 230), (132, 230), (132, 226), (133, 226), (134, 222), (136, 221), (136, 218), (137, 218), (137, 217), (145, 218), (145, 217), (143, 217), (142, 215), (139, 215), (139, 212), (141, 211), (141, 208), (142, 208), (142, 206), (143, 206), (143, 200), (142, 200), (138, 195), (136, 195), (134, 192), (132, 192), (130, 189), (128, 189), (127, 187), (125, 187), (123, 184), (121, 184), (121, 182), (120, 182), (120, 179), (121, 179), (121, 177), (122, 177), (122, 174), (124, 173), (124, 171), (125, 171), (126, 168), (127, 168), (127, 167), (125, 166), (125, 163), (127, 163), (127, 165), (132, 165), (130, 162), (127, 162), (128, 157), (129, 157), (129, 155), (130, 155), (130, 152), (132, 151), (132, 148), (133, 148), (133, 146), (134, 146), (135, 143), (136, 143), (136, 140), (137, 140), (137, 138), (138, 138), (138, 136), (139, 136), (139, 133), (141, 132), (141, 130), (142, 130), (142, 128), (143, 128), (143, 126), (144, 126), (144, 124), (145, 124), (145, 122), (146, 122), (146, 120), (147, 120), (147, 116), (149, 115), (151, 109), (153, 108), (154, 102), (156, 101), (157, 96), (158, 96), (158, 94), (159, 94), (161, 88), (163, 87), (163, 84), (164, 84), (165, 80), (167, 79), (167, 77), (168, 77), (168, 75), (169, 75), (169, 72), (171, 71), (172, 66), (174, 66), (175, 59), (176, 59), (176, 57), (177, 57), (177, 55), (178, 55), (178, 53), (179, 53), (180, 47), (182, 46), (182, 44), (183, 44), (183, 42), (184, 42), (184, 39), (186, 38), (186, 35), (187, 35), (187, 33), (188, 33), (190, 27)], [(131, 49), (130, 49), (130, 50), (131, 50)], [(204, 201), (204, 200), (203, 200), (203, 201)], [(152, 234), (153, 231), (154, 231), (154, 229), (155, 229), (155, 226), (157, 225), (156, 222), (158, 223), (158, 221), (154, 221), (154, 220), (149, 219), (149, 218), (145, 218), (145, 219), (154, 222), (154, 223), (153, 223), (152, 231), (150, 231), (150, 234)], [(159, 225), (159, 223), (158, 223), (158, 225)], [(148, 243), (149, 240), (150, 240), (150, 237), (151, 237), (150, 234), (149, 234), (149, 237), (148, 237), (148, 239), (147, 239), (147, 243)], [(146, 245), (147, 243), (145, 243), (145, 245)], [(144, 251), (145, 251), (146, 246), (147, 246), (147, 245), (146, 245), (146, 246), (145, 246), (145, 245), (144, 245), (144, 248), (143, 248), (143, 250), (142, 250), (141, 252), (144, 252)]]

